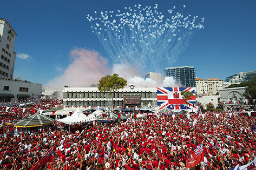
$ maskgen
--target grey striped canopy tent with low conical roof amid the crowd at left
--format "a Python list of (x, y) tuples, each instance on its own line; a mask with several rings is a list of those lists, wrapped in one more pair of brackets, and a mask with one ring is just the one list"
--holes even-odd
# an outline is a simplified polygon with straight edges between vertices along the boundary
[[(35, 113), (31, 115), (28, 118), (23, 118), (21, 121), (19, 121), (17, 124), (15, 124), (15, 127), (21, 127), (21, 131), (24, 130), (28, 131), (31, 130), (31, 127), (39, 127), (44, 126), (47, 127), (49, 124), (53, 123), (54, 119), (45, 117), (44, 115)], [(32, 128), (35, 129), (35, 128)]]

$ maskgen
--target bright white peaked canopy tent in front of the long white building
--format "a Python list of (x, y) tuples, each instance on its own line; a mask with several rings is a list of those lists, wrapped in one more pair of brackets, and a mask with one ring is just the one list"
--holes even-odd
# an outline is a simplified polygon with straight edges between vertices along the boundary
[(88, 121), (94, 121), (94, 120), (97, 120), (97, 118), (94, 116), (90, 116), (88, 115), (88, 117), (83, 114), (81, 111), (80, 111), (80, 108), (77, 107), (76, 111), (69, 115), (68, 117), (65, 117), (63, 119), (57, 119), (57, 121), (60, 121), (61, 123), (64, 123), (64, 124), (73, 124), (73, 123), (80, 123), (80, 122), (88, 122)]

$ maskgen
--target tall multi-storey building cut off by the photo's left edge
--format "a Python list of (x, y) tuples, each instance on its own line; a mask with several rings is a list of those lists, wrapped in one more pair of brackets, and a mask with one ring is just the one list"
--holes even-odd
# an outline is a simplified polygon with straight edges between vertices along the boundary
[(16, 36), (17, 33), (6, 19), (0, 18), (0, 78), (12, 79), (14, 76)]

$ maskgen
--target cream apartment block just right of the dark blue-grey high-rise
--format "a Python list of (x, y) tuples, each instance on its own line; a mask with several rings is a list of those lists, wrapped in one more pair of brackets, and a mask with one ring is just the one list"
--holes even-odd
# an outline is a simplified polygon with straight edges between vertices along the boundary
[(196, 92), (198, 95), (217, 94), (221, 89), (224, 89), (224, 80), (209, 78), (196, 78)]

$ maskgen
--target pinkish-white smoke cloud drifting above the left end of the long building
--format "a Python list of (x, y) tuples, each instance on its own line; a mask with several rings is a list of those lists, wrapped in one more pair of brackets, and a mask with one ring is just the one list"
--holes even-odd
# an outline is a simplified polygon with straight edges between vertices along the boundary
[(64, 73), (49, 80), (47, 86), (86, 87), (99, 83), (100, 78), (110, 72), (107, 67), (108, 60), (100, 56), (99, 52), (76, 48), (70, 52), (70, 57), (70, 65)]

